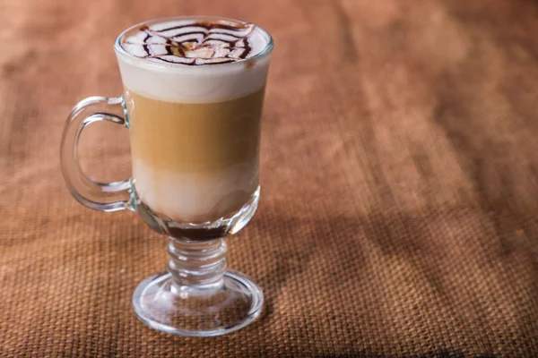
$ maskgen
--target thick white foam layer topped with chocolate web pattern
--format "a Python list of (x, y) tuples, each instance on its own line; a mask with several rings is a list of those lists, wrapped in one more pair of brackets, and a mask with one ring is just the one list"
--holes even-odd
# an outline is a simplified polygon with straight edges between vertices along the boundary
[(147, 21), (124, 31), (116, 53), (126, 90), (182, 103), (240, 98), (265, 85), (271, 36), (219, 18)]

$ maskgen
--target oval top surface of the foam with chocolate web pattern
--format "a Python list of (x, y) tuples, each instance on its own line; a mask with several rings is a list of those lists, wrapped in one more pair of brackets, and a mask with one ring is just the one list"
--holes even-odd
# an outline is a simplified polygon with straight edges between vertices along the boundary
[(227, 64), (252, 54), (255, 25), (232, 21), (164, 22), (124, 38), (131, 55), (169, 64)]

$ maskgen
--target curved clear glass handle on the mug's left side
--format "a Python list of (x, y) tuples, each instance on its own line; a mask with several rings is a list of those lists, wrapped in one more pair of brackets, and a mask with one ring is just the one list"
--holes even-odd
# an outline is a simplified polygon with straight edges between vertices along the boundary
[(89, 124), (107, 121), (126, 125), (123, 98), (89, 97), (82, 99), (67, 117), (62, 135), (60, 158), (62, 173), (74, 199), (91, 209), (117, 211), (130, 209), (130, 179), (99, 183), (82, 172), (78, 143)]

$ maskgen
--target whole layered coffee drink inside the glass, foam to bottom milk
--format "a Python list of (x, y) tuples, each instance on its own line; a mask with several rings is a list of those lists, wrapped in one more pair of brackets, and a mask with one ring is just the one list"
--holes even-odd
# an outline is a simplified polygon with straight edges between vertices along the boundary
[(152, 212), (207, 223), (258, 188), (265, 31), (240, 21), (158, 21), (118, 39), (133, 179)]

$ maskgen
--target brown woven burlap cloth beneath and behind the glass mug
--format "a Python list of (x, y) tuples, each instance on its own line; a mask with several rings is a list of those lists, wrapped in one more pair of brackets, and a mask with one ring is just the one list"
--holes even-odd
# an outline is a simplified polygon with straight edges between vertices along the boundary
[[(230, 267), (256, 324), (171, 337), (131, 310), (164, 238), (79, 205), (65, 116), (121, 90), (112, 43), (166, 14), (247, 19), (276, 41), (262, 201)], [(538, 2), (0, 3), (0, 356), (538, 356)], [(83, 166), (129, 175), (125, 129)]]

